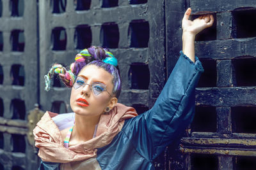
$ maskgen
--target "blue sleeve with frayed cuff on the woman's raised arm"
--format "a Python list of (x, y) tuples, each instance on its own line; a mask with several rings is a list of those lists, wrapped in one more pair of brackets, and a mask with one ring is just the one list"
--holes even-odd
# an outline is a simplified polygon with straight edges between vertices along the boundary
[(191, 123), (195, 112), (195, 87), (203, 71), (197, 57), (194, 63), (180, 52), (152, 109), (125, 123), (127, 138), (143, 157), (155, 159)]

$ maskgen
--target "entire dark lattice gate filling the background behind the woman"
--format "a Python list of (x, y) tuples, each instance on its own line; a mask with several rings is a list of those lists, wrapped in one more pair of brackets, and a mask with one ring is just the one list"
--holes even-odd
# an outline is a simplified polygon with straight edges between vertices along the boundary
[(45, 92), (44, 74), (55, 62), (68, 67), (90, 45), (108, 46), (118, 59), (119, 102), (139, 113), (151, 108), (179, 57), (181, 20), (189, 6), (192, 18), (198, 11), (215, 18), (196, 37), (205, 72), (193, 123), (155, 160), (156, 169), (255, 167), (253, 1), (0, 2), (0, 169), (36, 169), (39, 159), (29, 145), (36, 118), (29, 111), (35, 103), (44, 111), (71, 111), (70, 89), (56, 79)]

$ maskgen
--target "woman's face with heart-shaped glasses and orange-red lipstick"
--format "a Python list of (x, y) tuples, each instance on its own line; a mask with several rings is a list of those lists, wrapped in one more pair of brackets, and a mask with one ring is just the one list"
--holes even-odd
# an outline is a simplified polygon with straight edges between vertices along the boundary
[[(77, 76), (72, 87), (70, 106), (79, 115), (95, 117), (104, 113), (113, 90), (113, 77), (97, 66), (86, 66)], [(106, 87), (106, 90), (102, 89)], [(94, 91), (94, 92), (93, 92)], [(109, 92), (109, 93), (108, 93)]]

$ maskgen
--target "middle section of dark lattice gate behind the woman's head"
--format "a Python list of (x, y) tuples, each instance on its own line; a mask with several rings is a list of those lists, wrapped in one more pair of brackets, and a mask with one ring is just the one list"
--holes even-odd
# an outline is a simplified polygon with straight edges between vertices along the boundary
[(40, 1), (42, 109), (71, 111), (70, 89), (56, 79), (52, 90), (45, 92), (43, 75), (55, 62), (65, 66), (74, 62), (76, 53), (91, 45), (108, 47), (118, 59), (122, 78), (118, 102), (134, 106), (140, 113), (152, 106), (165, 80), (163, 4), (164, 1)]

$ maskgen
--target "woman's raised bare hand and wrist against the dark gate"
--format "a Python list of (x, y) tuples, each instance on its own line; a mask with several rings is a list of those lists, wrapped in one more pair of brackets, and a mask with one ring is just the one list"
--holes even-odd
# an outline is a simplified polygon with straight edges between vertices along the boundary
[(212, 15), (202, 15), (195, 20), (189, 20), (191, 8), (185, 12), (182, 19), (182, 52), (195, 62), (195, 36), (198, 32), (211, 27), (214, 18)]

